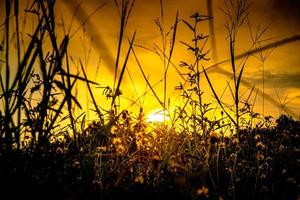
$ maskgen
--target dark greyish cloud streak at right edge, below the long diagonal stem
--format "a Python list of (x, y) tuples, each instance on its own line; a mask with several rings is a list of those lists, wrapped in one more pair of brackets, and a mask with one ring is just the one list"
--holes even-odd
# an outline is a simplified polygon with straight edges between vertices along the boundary
[[(246, 77), (253, 83), (262, 83), (262, 72), (254, 73), (256, 76)], [(268, 86), (276, 86), (281, 88), (300, 88), (300, 71), (299, 72), (279, 72), (265, 71), (265, 84)]]

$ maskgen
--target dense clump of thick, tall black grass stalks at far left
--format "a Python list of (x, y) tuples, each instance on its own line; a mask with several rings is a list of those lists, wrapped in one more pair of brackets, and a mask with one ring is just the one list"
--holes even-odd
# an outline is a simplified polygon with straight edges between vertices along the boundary
[[(4, 149), (12, 149), (13, 145), (20, 148), (21, 130), (30, 129), (32, 139), (39, 145), (43, 145), (47, 138), (54, 133), (57, 119), (63, 112), (63, 107), (67, 102), (68, 107), (75, 103), (80, 107), (79, 102), (72, 96), (71, 90), (77, 80), (88, 81), (78, 75), (70, 73), (68, 59), (67, 70), (64, 70), (63, 61), (67, 56), (69, 36), (65, 35), (59, 44), (57, 29), (55, 27), (54, 2), (35, 2), (30, 10), (30, 14), (38, 18), (38, 23), (30, 36), (28, 46), (21, 55), (21, 43), (19, 37), (19, 1), (6, 1), (6, 21), (5, 21), (5, 77), (1, 74), (1, 99), (4, 98), (4, 129), (1, 130), (0, 145)], [(14, 4), (14, 25), (16, 27), (17, 67), (16, 73), (11, 74), (9, 59), (13, 50), (10, 48), (10, 36), (14, 34), (10, 31), (10, 9)], [(34, 10), (36, 7), (40, 9)], [(43, 48), (45, 40), (50, 42), (47, 49)], [(48, 50), (48, 51), (47, 51)], [(45, 53), (45, 51), (47, 51)], [(21, 58), (22, 57), (22, 58)], [(34, 66), (37, 66), (35, 68)], [(38, 70), (38, 73), (34, 71)], [(11, 79), (13, 77), (13, 79)], [(30, 81), (36, 77), (37, 82), (31, 87)], [(71, 81), (71, 78), (73, 81)], [(10, 80), (11, 79), (11, 80)], [(94, 83), (93, 83), (94, 84)], [(59, 89), (61, 93), (56, 93)], [(28, 94), (30, 93), (30, 94)], [(33, 105), (31, 96), (39, 93), (40, 100)], [(27, 98), (29, 95), (29, 99)], [(57, 104), (57, 96), (61, 95), (61, 102)], [(70, 116), (72, 111), (69, 110)], [(25, 117), (23, 118), (22, 114)], [(16, 120), (16, 122), (15, 122)], [(17, 123), (17, 124), (16, 124)], [(74, 129), (74, 128), (73, 128)], [(4, 139), (4, 140), (3, 140)]]

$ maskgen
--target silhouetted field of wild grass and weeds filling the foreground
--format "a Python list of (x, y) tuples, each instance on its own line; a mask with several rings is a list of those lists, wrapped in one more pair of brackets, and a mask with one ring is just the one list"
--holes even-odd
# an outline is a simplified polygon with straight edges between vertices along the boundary
[[(156, 45), (154, 52), (161, 58), (164, 67), (162, 101), (155, 90), (156, 84), (150, 83), (139, 62), (135, 48), (141, 46), (135, 45), (136, 32), (132, 38), (125, 38), (134, 1), (115, 1), (120, 14), (120, 32), (113, 87), (100, 87), (99, 83), (89, 79), (81, 60), (78, 61), (81, 71), (71, 73), (76, 61), (69, 55), (68, 45), (75, 33), (70, 33), (69, 27), (62, 39), (57, 37), (54, 1), (34, 1), (26, 10), (27, 14), (36, 17), (38, 23), (33, 33), (28, 34), (30, 39), (25, 47), (20, 42), (19, 1), (7, 0), (0, 63), (1, 197), (299, 198), (300, 122), (288, 115), (275, 120), (254, 113), (256, 97), (253, 102), (250, 100), (255, 95), (255, 87), (246, 92), (241, 91), (240, 87), (244, 84), (244, 68), (250, 54), (271, 48), (272, 45), (260, 46), (259, 50), (251, 47), (245, 55), (236, 55), (237, 32), (247, 20), (248, 4), (242, 0), (238, 0), (237, 4), (226, 2), (227, 10), (224, 13), (229, 17), (226, 27), (233, 80), (228, 81), (227, 87), (233, 97), (233, 105), (222, 101), (222, 95), (217, 94), (211, 82), (208, 69), (203, 67), (209, 60), (209, 50), (206, 50), (209, 36), (199, 33), (198, 25), (210, 20), (211, 16), (195, 13), (189, 19), (180, 19), (177, 13), (173, 26), (166, 32), (166, 12), (163, 1), (160, 1), (161, 18), (155, 22), (161, 34), (162, 47)], [(191, 33), (190, 41), (176, 41), (180, 23)], [(260, 42), (263, 32), (265, 30), (257, 31), (257, 37), (252, 36), (254, 44)], [(12, 39), (13, 33), (16, 37)], [(297, 40), (297, 37), (293, 37), (275, 42), (274, 45), (286, 44), (295, 38)], [(126, 39), (129, 46), (120, 67), (122, 46)], [(10, 70), (10, 57), (14, 56), (11, 41), (16, 43), (15, 74)], [(50, 44), (47, 48), (45, 41)], [(168, 41), (170, 45), (167, 45)], [(177, 43), (186, 47), (194, 58), (192, 64), (189, 64), (190, 60), (184, 61), (182, 58), (180, 69), (172, 62)], [(186, 74), (180, 74), (184, 82), (179, 83), (176, 90), (180, 91), (178, 101), (182, 103), (178, 103), (174, 113), (171, 113), (170, 123), (166, 120), (163, 123), (147, 122), (142, 107), (137, 113), (131, 111), (130, 107), (120, 109), (117, 98), (121, 96), (120, 87), (131, 57), (138, 64), (149, 88), (137, 100), (132, 99), (132, 103), (151, 91), (164, 110), (164, 116), (166, 112), (169, 113), (166, 89), (169, 67), (175, 67), (179, 73), (181, 70), (187, 71)], [(237, 65), (240, 58), (242, 62)], [(203, 100), (205, 94), (200, 81), (203, 74), (221, 110)], [(74, 86), (79, 81), (86, 84), (98, 117), (90, 123), (86, 122), (84, 113), (76, 116), (74, 112), (74, 108), (81, 109), (74, 95)], [(110, 102), (109, 109), (99, 105), (92, 86), (104, 89), (103, 94)], [(209, 119), (208, 115), (215, 112), (220, 112), (220, 117)]]

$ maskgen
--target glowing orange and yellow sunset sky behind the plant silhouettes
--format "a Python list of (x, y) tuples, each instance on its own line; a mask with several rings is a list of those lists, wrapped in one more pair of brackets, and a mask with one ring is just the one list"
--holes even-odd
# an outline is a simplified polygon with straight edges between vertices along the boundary
[[(189, 17), (195, 12), (207, 15), (207, 2), (206, 0), (163, 0), (164, 8), (164, 27), (167, 32), (169, 28), (174, 24), (176, 12), (179, 13), (179, 19), (190, 21)], [(233, 1), (235, 2), (235, 1)], [(101, 86), (110, 85), (113, 83), (113, 69), (115, 66), (115, 58), (117, 54), (118, 45), (118, 33), (120, 17), (118, 9), (115, 6), (114, 0), (64, 0), (56, 1), (56, 17), (58, 20), (58, 28), (62, 38), (63, 31), (61, 25), (61, 19), (65, 24), (65, 29), (68, 30), (72, 15), (78, 8), (74, 21), (71, 27), (71, 35), (80, 27), (88, 16), (96, 10), (103, 3), (106, 3), (101, 9), (93, 14), (90, 19), (85, 23), (84, 29), (79, 29), (75, 35), (72, 35), (70, 41), (70, 52), (75, 63), (78, 63), (79, 58), (83, 60), (83, 63), (87, 66), (88, 77), (91, 80), (97, 81)], [(213, 11), (213, 25), (215, 32), (215, 44), (214, 49), (211, 46), (211, 36), (207, 42), (206, 49), (211, 49), (209, 57), (216, 55), (214, 59), (210, 61), (203, 61), (201, 64), (208, 68), (215, 63), (229, 59), (229, 40), (227, 37), (227, 31), (225, 28), (226, 17), (221, 11), (224, 8), (224, 1), (211, 0)], [(290, 114), (294, 117), (299, 117), (300, 114), (300, 2), (298, 0), (250, 0), (251, 4), (249, 8), (249, 24), (252, 33), (255, 34), (257, 30), (262, 31), (265, 27), (270, 26), (262, 36), (261, 45), (265, 46), (286, 38), (290, 38), (298, 35), (298, 40), (290, 42), (288, 44), (277, 46), (263, 51), (262, 55), (266, 55), (267, 59), (262, 62), (258, 54), (251, 56), (249, 62), (246, 65), (243, 80), (245, 85), (241, 88), (241, 93), (247, 92), (250, 89), (247, 84), (251, 86), (255, 85), (259, 89), (259, 95), (256, 99), (255, 110), (259, 113), (263, 112), (262, 109), (262, 70), (264, 67), (265, 78), (265, 115), (278, 116), (282, 113), (282, 109), (278, 106), (280, 104), (286, 104)], [(22, 1), (22, 7), (25, 8), (27, 1)], [(1, 10), (4, 10), (4, 3), (1, 2)], [(4, 12), (1, 12), (1, 23), (4, 22)], [(30, 19), (32, 16), (27, 14), (27, 26), (26, 31), (32, 30), (33, 21)], [(136, 0), (132, 13), (129, 18), (128, 25), (126, 27), (125, 40), (122, 49), (122, 59), (120, 67), (123, 64), (124, 56), (128, 50), (127, 38), (130, 39), (137, 31), (135, 44), (143, 46), (144, 48), (135, 47), (135, 51), (140, 64), (142, 65), (146, 75), (149, 77), (149, 82), (154, 85), (163, 78), (163, 63), (160, 58), (153, 52), (147, 50), (153, 50), (157, 45), (162, 47), (161, 37), (158, 27), (154, 20), (160, 18), (160, 1), (159, 0)], [(35, 22), (36, 23), (36, 22)], [(85, 30), (85, 33), (84, 33)], [(209, 22), (205, 21), (199, 25), (199, 33), (209, 35), (212, 30), (209, 30)], [(24, 36), (26, 37), (26, 36)], [(93, 38), (91, 51), (90, 41)], [(174, 48), (174, 54), (172, 63), (178, 68), (180, 61), (192, 62), (190, 53), (186, 50), (186, 47), (179, 41), (189, 43), (192, 39), (192, 34), (188, 28), (179, 22), (176, 44)], [(236, 41), (236, 55), (245, 53), (251, 47), (251, 34), (248, 26), (248, 21), (241, 27), (238, 32), (238, 38)], [(89, 54), (88, 63), (87, 60)], [(97, 65), (100, 61), (100, 67), (97, 70)], [(238, 63), (240, 60), (238, 60)], [(75, 70), (76, 67), (73, 68)], [(137, 66), (137, 63), (131, 54), (127, 71), (125, 73), (125, 79), (121, 85), (122, 91), (122, 105), (129, 105), (130, 101), (127, 99), (135, 100), (137, 96), (142, 95), (147, 89), (145, 80), (142, 77), (141, 72)], [(231, 76), (226, 72), (230, 72), (231, 66), (228, 63), (221, 64), (209, 71), (209, 76), (218, 92), (222, 94), (226, 88), (226, 81), (229, 81)], [(98, 71), (98, 73), (96, 73)], [(204, 99), (207, 102), (213, 101), (212, 92), (208, 87), (207, 81), (204, 75), (202, 75), (202, 85), (204, 91)], [(170, 107), (180, 104), (178, 101), (178, 91), (174, 90), (179, 82), (183, 83), (180, 75), (176, 72), (174, 67), (170, 67), (168, 72), (168, 93), (167, 97), (170, 98)], [(80, 102), (85, 105), (86, 91), (83, 85), (78, 86)], [(83, 88), (83, 89), (81, 89)], [(159, 98), (163, 99), (163, 82), (155, 86), (155, 91), (159, 95)], [(95, 88), (94, 92), (99, 102), (105, 102), (105, 97), (102, 94), (103, 90)], [(230, 102), (230, 92), (227, 89), (224, 93), (224, 101)], [(272, 102), (277, 101), (277, 103)], [(101, 103), (99, 103), (101, 105)], [(152, 93), (149, 91), (141, 101), (137, 102), (140, 106), (143, 106), (146, 112), (152, 112), (156, 109), (161, 109), (159, 103), (156, 101)], [(105, 103), (104, 103), (105, 104)], [(104, 105), (103, 104), (103, 105)], [(85, 107), (85, 106), (84, 106)], [(137, 106), (139, 107), (139, 105)]]

